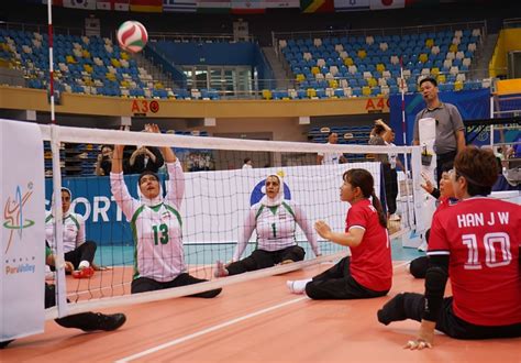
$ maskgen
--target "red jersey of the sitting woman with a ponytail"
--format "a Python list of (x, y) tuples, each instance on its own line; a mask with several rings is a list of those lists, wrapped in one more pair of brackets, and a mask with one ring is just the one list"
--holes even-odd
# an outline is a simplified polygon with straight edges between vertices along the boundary
[(374, 292), (390, 289), (392, 262), (389, 235), (381, 227), (378, 212), (368, 199), (353, 205), (347, 211), (345, 232), (352, 228), (363, 229), (361, 244), (351, 248), (351, 276), (362, 286)]

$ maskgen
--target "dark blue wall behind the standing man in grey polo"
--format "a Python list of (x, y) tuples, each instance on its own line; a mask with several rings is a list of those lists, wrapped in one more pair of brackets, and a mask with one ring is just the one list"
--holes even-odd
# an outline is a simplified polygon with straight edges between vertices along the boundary
[[(490, 90), (462, 90), (452, 92), (440, 92), (443, 102), (457, 107), (465, 120), (479, 120), (490, 118)], [(418, 112), (425, 107), (421, 94), (406, 95), (406, 132), (407, 145), (412, 144), (412, 131)], [(402, 119), (401, 119), (401, 95), (392, 95), (389, 98), (390, 125), (396, 131), (396, 144), (403, 145)], [(474, 144), (488, 144), (488, 135), (480, 140), (476, 139)]]

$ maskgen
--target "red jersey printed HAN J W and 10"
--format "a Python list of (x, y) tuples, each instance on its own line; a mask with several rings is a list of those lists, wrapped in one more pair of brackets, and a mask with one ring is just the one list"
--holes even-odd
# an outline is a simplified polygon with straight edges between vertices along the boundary
[(521, 207), (474, 197), (436, 212), (428, 255), (450, 255), (454, 314), (478, 326), (521, 322)]

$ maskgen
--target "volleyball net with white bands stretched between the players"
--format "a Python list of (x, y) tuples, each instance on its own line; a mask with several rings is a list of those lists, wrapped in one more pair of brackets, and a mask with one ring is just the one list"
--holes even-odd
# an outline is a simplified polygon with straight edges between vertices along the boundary
[[(47, 318), (65, 316), (102, 307), (121, 306), (187, 296), (229, 284), (245, 282), (264, 276), (286, 273), (313, 264), (335, 261), (348, 253), (348, 249), (318, 238), (321, 256), (317, 257), (307, 237), (299, 226), (295, 226), (295, 239), (306, 251), (304, 260), (291, 264), (278, 265), (242, 275), (214, 278), (217, 261), (230, 262), (234, 255), (237, 240), (244, 233), (245, 219), (251, 207), (265, 196), (265, 180), (268, 175), (277, 175), (282, 180), (284, 198), (298, 205), (304, 219), (312, 228), (314, 221), (324, 220), (335, 231), (345, 229), (345, 216), (348, 205), (340, 200), (340, 186), (344, 172), (351, 168), (364, 168), (375, 179), (376, 195), (386, 205), (385, 180), (381, 165), (374, 162), (374, 155), (388, 154), (389, 148), (366, 145), (325, 145), (298, 142), (252, 141), (219, 139), (209, 136), (177, 135), (168, 133), (145, 133), (115, 130), (77, 129), (66, 127), (41, 127), (45, 140), (45, 199), (47, 216), (54, 213), (55, 221), (63, 220), (62, 200), (53, 198), (54, 190), (63, 187), (70, 191), (69, 213), (76, 216), (80, 224), (85, 222), (85, 241), (97, 246), (93, 266), (96, 272), (90, 278), (66, 276), (64, 245), (60, 228), (54, 223), (56, 241), (51, 245), (56, 258), (55, 283), (58, 294), (57, 307), (47, 309)], [(138, 174), (132, 174), (128, 167), (136, 148), (146, 145), (170, 147), (179, 160), (184, 173), (184, 194), (180, 206), (173, 213), (160, 218), (178, 218), (181, 226), (182, 253), (170, 261), (184, 264), (190, 275), (209, 282), (190, 286), (176, 287), (153, 293), (131, 295), (131, 284), (138, 266), (154, 264), (154, 256), (169, 242), (162, 233), (162, 226), (152, 226), (147, 242), (156, 254), (137, 253), (141, 235), (135, 220), (130, 221), (115, 202), (111, 193), (109, 176), (92, 176), (95, 163), (101, 145), (125, 145), (123, 156), (124, 184), (130, 196), (140, 202)], [(125, 150), (126, 150), (125, 148)], [(421, 228), (418, 200), (424, 198), (420, 193), (420, 151), (419, 147), (396, 146), (393, 153), (400, 155), (406, 165), (403, 175), (411, 175), (412, 183), (402, 183), (400, 190), (404, 196), (400, 205), (402, 229)], [(348, 161), (340, 165), (318, 165), (318, 153), (343, 154)], [(147, 157), (145, 163), (154, 162)], [(244, 161), (250, 158), (253, 168), (243, 168)], [(134, 161), (135, 162), (135, 161)], [(160, 161), (159, 161), (160, 162)], [(159, 163), (160, 164), (160, 163)], [(148, 165), (148, 164), (147, 164)], [(414, 167), (414, 165), (417, 165)], [(74, 175), (77, 174), (77, 175)], [(89, 175), (90, 174), (90, 175)], [(162, 189), (168, 193), (167, 168), (160, 165), (157, 174)], [(52, 176), (52, 177), (51, 177)], [(163, 195), (165, 194), (163, 193)], [(62, 211), (62, 212), (60, 212)], [(288, 213), (293, 213), (291, 208)], [(134, 222), (134, 226), (132, 224)], [(140, 223), (146, 221), (137, 220)], [(47, 226), (47, 228), (49, 228)], [(67, 222), (62, 230), (67, 229)], [(74, 227), (73, 227), (74, 229)], [(65, 234), (68, 232), (66, 231)], [(273, 226), (276, 239), (276, 226)], [(62, 237), (60, 237), (62, 235)], [(242, 258), (248, 256), (257, 246), (256, 229), (248, 239)], [(65, 249), (65, 250), (64, 250)], [(144, 258), (140, 261), (140, 258)], [(51, 276), (52, 278), (53, 276)], [(66, 299), (69, 302), (66, 302)]]

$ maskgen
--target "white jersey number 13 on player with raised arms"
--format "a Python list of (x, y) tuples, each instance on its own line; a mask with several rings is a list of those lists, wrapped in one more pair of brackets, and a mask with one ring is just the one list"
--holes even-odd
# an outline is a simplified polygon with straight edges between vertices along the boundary
[(179, 161), (167, 163), (167, 195), (156, 206), (146, 206), (129, 194), (123, 173), (110, 174), (115, 202), (130, 222), (136, 257), (134, 278), (170, 282), (187, 271), (182, 251), (179, 208), (185, 194), (185, 175)]

